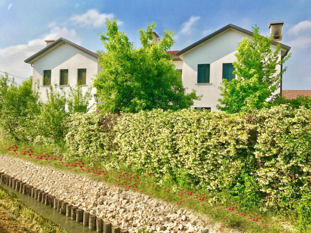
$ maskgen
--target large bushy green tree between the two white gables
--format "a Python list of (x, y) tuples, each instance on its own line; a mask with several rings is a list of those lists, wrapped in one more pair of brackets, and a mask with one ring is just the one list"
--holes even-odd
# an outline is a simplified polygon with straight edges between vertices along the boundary
[(117, 19), (106, 19), (106, 33), (100, 34), (105, 52), (99, 58), (103, 69), (94, 79), (99, 106), (104, 112), (139, 112), (153, 108), (182, 109), (198, 99), (196, 92), (186, 94), (172, 57), (166, 51), (174, 44), (174, 31), (164, 31), (160, 43), (152, 30), (138, 30), (142, 46), (134, 48), (128, 36), (118, 30)]

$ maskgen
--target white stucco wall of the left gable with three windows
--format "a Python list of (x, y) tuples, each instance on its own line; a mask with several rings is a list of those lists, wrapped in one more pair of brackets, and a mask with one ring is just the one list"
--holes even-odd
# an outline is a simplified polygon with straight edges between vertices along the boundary
[[(61, 69), (68, 69), (68, 86), (59, 86)], [(68, 93), (69, 85), (77, 85), (77, 69), (86, 69), (86, 85), (82, 86), (82, 91), (85, 93), (91, 85), (92, 77), (101, 70), (97, 62), (97, 57), (72, 45), (62, 43), (33, 62), (33, 85), (36, 80), (39, 80), (41, 98), (43, 101), (46, 101), (46, 89), (49, 86), (43, 86), (43, 71), (51, 70), (51, 85), (56, 83), (58, 87), (63, 87), (65, 92)], [(96, 89), (93, 88), (92, 94), (95, 93)], [(90, 105), (93, 103), (95, 103), (94, 97)]]

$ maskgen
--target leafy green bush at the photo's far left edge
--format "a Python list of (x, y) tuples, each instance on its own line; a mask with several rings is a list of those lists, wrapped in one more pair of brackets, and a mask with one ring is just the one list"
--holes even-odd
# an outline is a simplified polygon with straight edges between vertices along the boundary
[(17, 85), (7, 74), (0, 76), (0, 125), (14, 139), (24, 139), (20, 126), (40, 111), (38, 103), (38, 86), (32, 89), (32, 77)]

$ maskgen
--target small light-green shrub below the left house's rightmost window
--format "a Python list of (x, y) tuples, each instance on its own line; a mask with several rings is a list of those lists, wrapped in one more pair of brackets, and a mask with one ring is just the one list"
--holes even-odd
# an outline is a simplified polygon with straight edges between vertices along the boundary
[(94, 104), (89, 105), (92, 97), (91, 89), (88, 89), (86, 93), (83, 94), (81, 85), (77, 85), (76, 87), (70, 86), (67, 97), (68, 112), (89, 112), (94, 106)]

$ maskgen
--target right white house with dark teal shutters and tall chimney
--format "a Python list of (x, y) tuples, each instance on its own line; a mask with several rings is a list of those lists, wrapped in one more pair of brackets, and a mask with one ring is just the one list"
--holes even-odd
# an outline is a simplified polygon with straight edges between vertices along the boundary
[[(274, 35), (272, 50), (282, 39), (282, 25), (284, 22), (269, 24), (270, 32)], [(183, 86), (190, 92), (197, 90), (202, 95), (201, 100), (195, 101), (197, 109), (210, 109), (217, 111), (216, 105), (220, 98), (219, 86), (222, 79), (232, 80), (235, 76), (232, 62), (234, 62), (236, 48), (241, 40), (248, 36), (252, 39), (253, 33), (233, 24), (228, 24), (212, 34), (198, 40), (188, 47), (178, 51), (168, 51), (173, 57), (176, 69), (181, 71)], [(285, 57), (290, 47), (281, 44), (280, 59)], [(277, 67), (277, 72), (281, 66)], [(281, 87), (282, 88), (282, 87)], [(281, 92), (281, 88), (278, 92)]]

